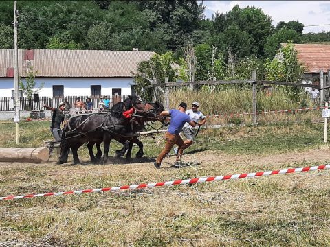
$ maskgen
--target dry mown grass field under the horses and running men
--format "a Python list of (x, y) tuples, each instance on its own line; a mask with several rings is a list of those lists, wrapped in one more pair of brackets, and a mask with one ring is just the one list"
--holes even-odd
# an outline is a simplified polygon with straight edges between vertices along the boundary
[[(49, 122), (20, 126), (20, 146), (50, 139)], [(0, 124), (1, 147), (15, 146), (14, 124)], [(170, 155), (155, 169), (162, 135), (142, 137), (145, 156), (107, 165), (0, 163), (0, 196), (329, 163), (322, 123), (202, 130), (184, 161)], [(115, 143), (115, 142), (114, 142)], [(117, 144), (111, 148), (119, 148)], [(311, 144), (305, 144), (311, 143)], [(136, 152), (134, 148), (133, 153)], [(113, 151), (111, 151), (113, 154)], [(330, 173), (276, 175), (199, 185), (0, 201), (0, 246), (330, 246)]]

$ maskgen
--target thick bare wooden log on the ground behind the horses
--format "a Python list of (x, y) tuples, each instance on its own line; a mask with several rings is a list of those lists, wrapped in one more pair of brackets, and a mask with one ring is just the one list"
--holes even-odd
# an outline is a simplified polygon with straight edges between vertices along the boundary
[(42, 163), (50, 159), (48, 148), (0, 148), (0, 162)]

